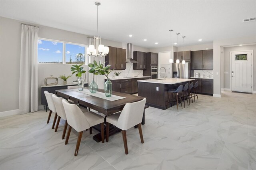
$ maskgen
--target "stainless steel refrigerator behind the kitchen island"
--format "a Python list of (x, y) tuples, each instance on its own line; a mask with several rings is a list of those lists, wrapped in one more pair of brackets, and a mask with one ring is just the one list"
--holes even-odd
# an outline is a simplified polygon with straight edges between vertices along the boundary
[(190, 63), (172, 63), (172, 78), (189, 79)]

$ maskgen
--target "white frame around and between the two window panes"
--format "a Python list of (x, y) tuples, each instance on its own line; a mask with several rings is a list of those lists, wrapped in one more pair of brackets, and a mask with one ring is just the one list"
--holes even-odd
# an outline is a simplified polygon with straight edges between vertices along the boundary
[[(82, 43), (72, 43), (72, 42), (64, 42), (64, 41), (60, 41), (60, 40), (52, 40), (52, 39), (48, 39), (48, 38), (38, 38), (38, 40), (44, 40), (44, 41), (51, 41), (51, 42), (58, 42), (58, 43), (63, 43), (63, 50), (62, 50), (62, 64), (67, 64), (66, 63), (66, 56), (65, 56), (65, 51), (66, 51), (66, 43), (68, 44), (72, 44), (72, 45), (80, 45), (80, 46), (84, 46), (84, 65), (88, 65), (88, 61), (86, 59), (86, 57), (88, 58), (88, 54), (86, 53), (87, 51), (87, 47), (88, 45), (86, 44), (82, 44)], [(38, 43), (37, 43), (37, 55), (38, 55)], [(38, 62), (38, 59), (37, 59)], [(39, 63), (38, 64), (56, 64), (56, 63)], [(61, 63), (59, 63), (61, 64)], [(74, 64), (68, 64), (68, 65), (74, 65)]]

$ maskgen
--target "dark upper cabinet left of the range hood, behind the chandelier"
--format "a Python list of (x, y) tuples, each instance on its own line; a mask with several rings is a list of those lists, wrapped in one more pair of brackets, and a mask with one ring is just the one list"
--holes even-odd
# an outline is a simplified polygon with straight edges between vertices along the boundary
[(105, 56), (106, 65), (111, 65), (110, 69), (126, 69), (126, 49), (109, 47), (109, 52)]

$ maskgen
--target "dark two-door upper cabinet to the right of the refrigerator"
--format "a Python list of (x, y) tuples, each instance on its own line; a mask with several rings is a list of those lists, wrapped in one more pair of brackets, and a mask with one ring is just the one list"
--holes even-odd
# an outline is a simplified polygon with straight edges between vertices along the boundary
[(192, 51), (192, 69), (213, 69), (213, 49)]

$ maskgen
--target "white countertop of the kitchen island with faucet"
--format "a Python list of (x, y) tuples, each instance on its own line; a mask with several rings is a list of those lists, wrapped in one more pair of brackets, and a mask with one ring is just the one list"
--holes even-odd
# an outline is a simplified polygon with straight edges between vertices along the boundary
[(145, 83), (159, 83), (159, 84), (177, 84), (177, 83), (183, 83), (186, 81), (193, 81), (195, 79), (178, 79), (178, 78), (164, 78), (162, 79), (148, 79), (148, 80), (138, 80), (139, 82), (145, 82)]

